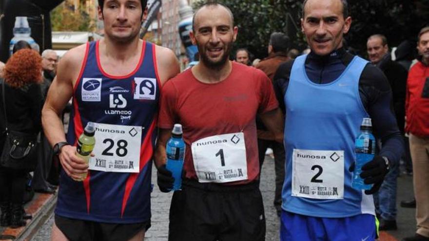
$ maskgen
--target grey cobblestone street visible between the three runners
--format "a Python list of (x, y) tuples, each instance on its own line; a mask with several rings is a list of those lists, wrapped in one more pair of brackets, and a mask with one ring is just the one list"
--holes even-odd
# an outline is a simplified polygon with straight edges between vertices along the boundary
[[(274, 161), (266, 156), (262, 167), (261, 192), (264, 199), (265, 216), (267, 222), (266, 241), (278, 241), (279, 219), (274, 206)], [(168, 237), (168, 214), (172, 193), (162, 193), (156, 185), (156, 169), (153, 168), (152, 183), (155, 184), (152, 192), (152, 227), (147, 231), (145, 241), (166, 241)], [(51, 217), (39, 230), (33, 241), (50, 240), (51, 227), (54, 222)]]

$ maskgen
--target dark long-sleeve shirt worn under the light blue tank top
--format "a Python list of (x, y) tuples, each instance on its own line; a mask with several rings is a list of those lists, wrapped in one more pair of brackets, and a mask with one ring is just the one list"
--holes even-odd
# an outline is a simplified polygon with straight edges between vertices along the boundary
[[(328, 56), (310, 53), (305, 62), (305, 70), (310, 80), (317, 84), (327, 84), (337, 79), (350, 64), (353, 55), (343, 48)], [(284, 96), (288, 89), (293, 61), (283, 63), (274, 75), (274, 90), (282, 111), (286, 112)], [(404, 142), (396, 124), (392, 110), (392, 92), (383, 72), (367, 64), (359, 78), (359, 95), (372, 119), (373, 133), (381, 139), (379, 155), (385, 156), (391, 163), (399, 162), (404, 152)]]

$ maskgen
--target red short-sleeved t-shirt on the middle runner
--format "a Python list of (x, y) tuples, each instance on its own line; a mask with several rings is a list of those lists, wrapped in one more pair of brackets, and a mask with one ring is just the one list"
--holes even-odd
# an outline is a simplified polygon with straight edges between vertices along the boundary
[(167, 81), (161, 91), (158, 127), (183, 126), (186, 143), (186, 177), (197, 179), (191, 144), (213, 135), (243, 132), (245, 137), (248, 180), (258, 178), (259, 160), (256, 138), (256, 113), (278, 107), (270, 79), (262, 71), (232, 62), (231, 74), (221, 82), (198, 81), (191, 69)]

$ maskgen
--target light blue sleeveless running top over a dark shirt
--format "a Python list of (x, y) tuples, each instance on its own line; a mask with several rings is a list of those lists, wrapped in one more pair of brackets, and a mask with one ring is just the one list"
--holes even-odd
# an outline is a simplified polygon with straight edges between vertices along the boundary
[[(354, 141), (360, 131), (362, 118), (369, 116), (359, 96), (359, 77), (368, 61), (355, 56), (336, 80), (328, 84), (316, 84), (306, 74), (306, 57), (299, 56), (295, 59), (288, 90), (284, 96), (286, 175), (282, 208), (292, 213), (324, 218), (374, 214), (372, 195), (366, 195), (363, 191), (351, 187), (352, 173), (349, 171), (355, 161)], [(294, 149), (344, 151), (342, 199), (292, 196)], [(313, 176), (318, 169), (309, 168), (307, 175)], [(323, 172), (319, 174), (320, 176), (313, 177), (312, 182), (323, 185)]]

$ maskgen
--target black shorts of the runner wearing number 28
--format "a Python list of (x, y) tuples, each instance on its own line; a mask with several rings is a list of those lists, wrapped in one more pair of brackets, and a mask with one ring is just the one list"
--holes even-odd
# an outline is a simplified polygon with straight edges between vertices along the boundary
[(69, 241), (128, 241), (151, 221), (139, 223), (105, 223), (70, 219), (55, 215), (55, 224)]

